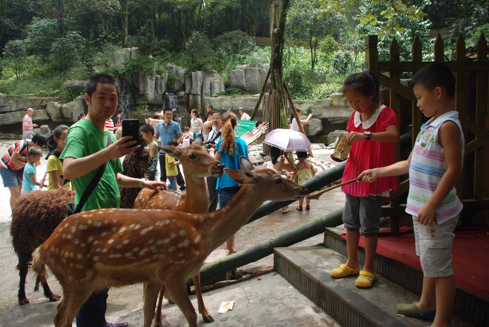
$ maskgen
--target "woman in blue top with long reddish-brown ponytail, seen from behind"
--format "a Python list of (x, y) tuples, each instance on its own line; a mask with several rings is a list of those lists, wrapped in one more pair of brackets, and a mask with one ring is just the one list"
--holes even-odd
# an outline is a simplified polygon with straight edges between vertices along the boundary
[[(233, 112), (228, 111), (222, 115), (221, 120), (222, 136), (216, 146), (215, 158), (220, 160), (225, 168), (241, 169), (240, 156), (248, 157), (248, 147), (246, 142), (234, 133), (238, 118)], [(216, 190), (219, 192), (219, 207), (222, 208), (238, 193), (240, 186), (228, 174), (223, 174), (217, 179)], [(236, 252), (234, 235), (226, 241), (226, 249), (232, 251), (231, 253)]]

